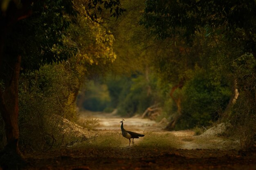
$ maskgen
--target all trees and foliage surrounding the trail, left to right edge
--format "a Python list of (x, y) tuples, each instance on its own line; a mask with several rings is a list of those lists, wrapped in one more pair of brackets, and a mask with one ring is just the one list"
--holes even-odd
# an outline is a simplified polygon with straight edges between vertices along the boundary
[[(3, 2), (1, 23), (22, 9)], [(38, 0), (22, 12), (0, 29), (0, 112), (17, 86), (22, 151), (70, 143), (60, 132), (77, 106), (124, 117), (151, 107), (168, 130), (224, 121), (242, 147), (256, 141), (255, 1)]]

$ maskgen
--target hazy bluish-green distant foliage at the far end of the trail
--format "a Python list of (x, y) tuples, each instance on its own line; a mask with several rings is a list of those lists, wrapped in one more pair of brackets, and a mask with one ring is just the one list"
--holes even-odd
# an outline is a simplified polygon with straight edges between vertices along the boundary
[(143, 75), (133, 78), (108, 77), (105, 83), (96, 84), (94, 81), (89, 86), (83, 99), (83, 108), (94, 111), (117, 108), (120, 115), (130, 117), (135, 113), (143, 113), (153, 102), (150, 87)]

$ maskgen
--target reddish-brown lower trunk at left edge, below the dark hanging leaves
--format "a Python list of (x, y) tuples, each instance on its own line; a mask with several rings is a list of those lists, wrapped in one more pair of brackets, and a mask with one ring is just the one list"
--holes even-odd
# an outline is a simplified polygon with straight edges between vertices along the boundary
[(6, 82), (5, 88), (0, 89), (0, 112), (4, 120), (7, 145), (0, 152), (0, 165), (3, 169), (19, 169), (25, 166), (22, 154), (18, 148), (19, 127), (18, 127), (18, 81), (20, 74), (20, 60), (11, 63), (11, 73)]

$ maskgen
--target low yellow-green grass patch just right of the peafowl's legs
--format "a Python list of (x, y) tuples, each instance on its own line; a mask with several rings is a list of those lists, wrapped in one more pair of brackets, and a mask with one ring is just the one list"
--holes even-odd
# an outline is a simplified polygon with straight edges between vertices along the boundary
[(137, 147), (143, 148), (178, 148), (182, 142), (170, 132), (146, 132)]

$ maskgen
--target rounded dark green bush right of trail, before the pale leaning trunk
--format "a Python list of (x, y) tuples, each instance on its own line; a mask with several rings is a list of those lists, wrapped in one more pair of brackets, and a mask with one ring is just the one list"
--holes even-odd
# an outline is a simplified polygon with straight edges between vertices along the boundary
[(195, 75), (182, 89), (182, 116), (177, 128), (209, 126), (224, 112), (231, 91), (227, 79), (217, 73), (207, 74), (196, 68)]

